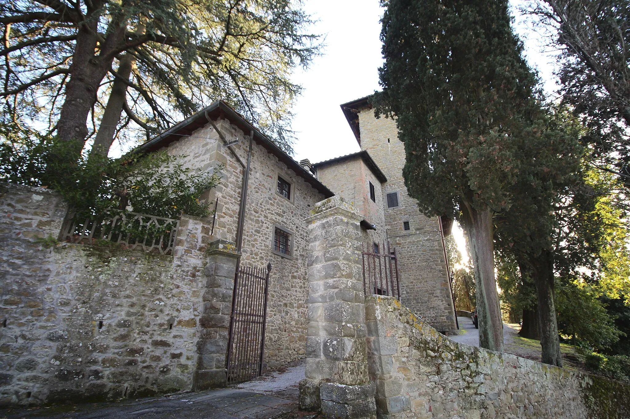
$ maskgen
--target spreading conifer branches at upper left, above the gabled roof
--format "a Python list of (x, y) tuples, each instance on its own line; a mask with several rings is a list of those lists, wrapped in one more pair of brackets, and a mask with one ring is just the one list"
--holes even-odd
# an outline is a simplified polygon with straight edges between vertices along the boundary
[[(78, 122), (93, 131), (117, 58), (133, 55), (120, 139), (156, 135), (223, 99), (290, 151), (291, 109), (301, 91), (290, 75), (320, 46), (301, 2), (290, 0), (1, 0), (0, 19), (9, 23), (0, 64), (8, 100), (0, 108), (31, 129)], [(86, 106), (72, 106), (81, 115), (60, 121), (66, 97), (77, 92)], [(88, 129), (90, 108), (96, 123)]]

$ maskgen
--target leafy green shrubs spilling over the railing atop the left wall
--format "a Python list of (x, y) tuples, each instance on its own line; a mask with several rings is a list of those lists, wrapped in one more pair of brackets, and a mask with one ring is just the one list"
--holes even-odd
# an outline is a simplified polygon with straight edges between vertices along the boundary
[(177, 163), (184, 156), (166, 152), (129, 154), (120, 159), (81, 156), (72, 161), (72, 144), (43, 137), (0, 142), (0, 180), (49, 187), (72, 205), (76, 217), (89, 218), (117, 209), (126, 198), (134, 212), (178, 219), (207, 217), (202, 194), (219, 184), (214, 173)]

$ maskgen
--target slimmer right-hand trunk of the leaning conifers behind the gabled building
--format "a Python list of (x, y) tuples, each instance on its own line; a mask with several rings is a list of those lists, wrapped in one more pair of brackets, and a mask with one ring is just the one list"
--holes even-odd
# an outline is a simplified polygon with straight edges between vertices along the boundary
[[(133, 62), (134, 57), (131, 54), (125, 54), (120, 58), (118, 75), (127, 81), (129, 81), (129, 75), (131, 74)], [(90, 151), (90, 156), (95, 154), (107, 156), (110, 151), (110, 147), (112, 147), (112, 142), (114, 141), (114, 135), (116, 134), (116, 126), (120, 120), (120, 114), (122, 113), (123, 106), (125, 105), (125, 100), (127, 100), (126, 96), (127, 84), (116, 77), (112, 85), (110, 98), (107, 100), (105, 113), (103, 113), (103, 118), (101, 118), (100, 127), (98, 127), (98, 133), (96, 134), (94, 145)]]

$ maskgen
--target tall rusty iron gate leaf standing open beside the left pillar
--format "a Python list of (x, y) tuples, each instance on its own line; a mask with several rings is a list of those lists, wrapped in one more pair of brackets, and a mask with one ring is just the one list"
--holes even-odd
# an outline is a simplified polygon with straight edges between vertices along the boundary
[(243, 382), (263, 373), (267, 290), (272, 264), (239, 267), (234, 275), (232, 315), (227, 341), (227, 382)]

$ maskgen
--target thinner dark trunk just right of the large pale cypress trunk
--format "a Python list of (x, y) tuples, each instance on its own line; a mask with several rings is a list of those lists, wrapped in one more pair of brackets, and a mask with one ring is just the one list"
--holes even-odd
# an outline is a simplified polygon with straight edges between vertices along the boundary
[(538, 317), (541, 327), (542, 362), (562, 366), (558, 319), (554, 302), (553, 254), (543, 250), (541, 255), (530, 260), (536, 294), (538, 296)]

